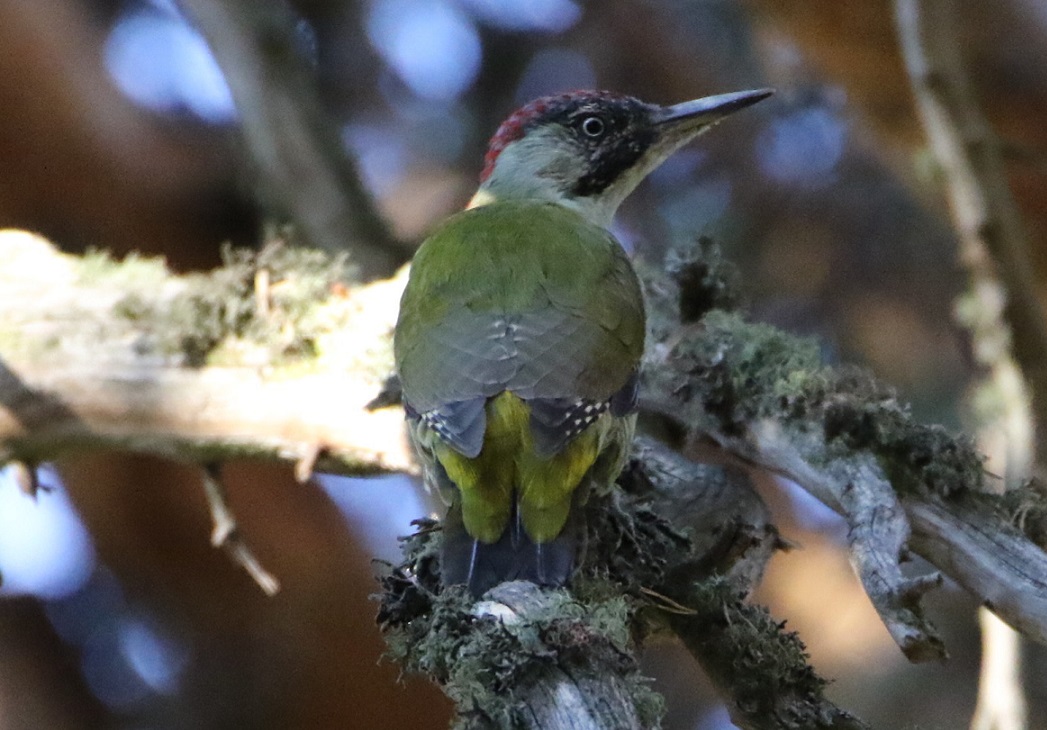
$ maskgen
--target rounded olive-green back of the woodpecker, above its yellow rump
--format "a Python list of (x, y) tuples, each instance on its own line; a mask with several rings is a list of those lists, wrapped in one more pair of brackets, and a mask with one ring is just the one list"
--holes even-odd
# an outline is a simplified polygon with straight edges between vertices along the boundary
[(419, 249), (396, 362), (420, 413), (492, 397), (609, 398), (644, 348), (640, 283), (603, 228), (553, 203), (465, 211)]

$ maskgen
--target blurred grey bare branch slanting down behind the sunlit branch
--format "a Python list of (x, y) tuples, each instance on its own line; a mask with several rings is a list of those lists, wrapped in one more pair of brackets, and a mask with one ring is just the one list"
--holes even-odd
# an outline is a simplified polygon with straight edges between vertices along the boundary
[(263, 203), (290, 216), (312, 245), (349, 250), (365, 281), (410, 257), (364, 190), (297, 51), (295, 18), (279, 0), (182, 0), (232, 92)]

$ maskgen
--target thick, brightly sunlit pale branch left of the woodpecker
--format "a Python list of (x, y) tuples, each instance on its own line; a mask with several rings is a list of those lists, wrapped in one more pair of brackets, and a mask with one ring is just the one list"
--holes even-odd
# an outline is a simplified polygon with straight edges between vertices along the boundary
[(392, 370), (403, 275), (354, 284), (324, 253), (229, 252), (207, 274), (75, 258), (0, 231), (0, 457), (122, 449), (365, 474), (411, 471)]

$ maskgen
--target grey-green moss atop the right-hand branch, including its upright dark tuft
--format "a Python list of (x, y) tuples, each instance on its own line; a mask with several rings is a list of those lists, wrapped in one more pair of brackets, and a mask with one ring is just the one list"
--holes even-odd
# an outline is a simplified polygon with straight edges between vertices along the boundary
[(645, 388), (688, 432), (740, 436), (770, 419), (816, 466), (867, 452), (898, 490), (981, 487), (983, 460), (971, 439), (917, 422), (869, 373), (825, 366), (814, 339), (708, 309), (737, 302), (715, 246), (699, 241), (672, 252), (667, 266), (673, 286), (648, 274), (655, 362)]

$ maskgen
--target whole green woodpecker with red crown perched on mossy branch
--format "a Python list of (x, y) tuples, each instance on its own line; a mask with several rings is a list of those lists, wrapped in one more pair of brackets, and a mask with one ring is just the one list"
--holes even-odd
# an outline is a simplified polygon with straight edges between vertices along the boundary
[(636, 424), (644, 301), (611, 218), (681, 146), (770, 94), (661, 107), (577, 91), (491, 139), (468, 209), (418, 250), (396, 328), (410, 440), (449, 504), (445, 584), (570, 577), (577, 507), (614, 484)]

